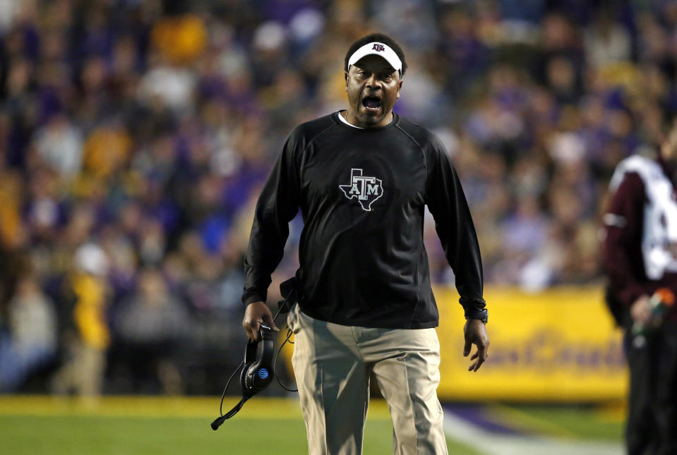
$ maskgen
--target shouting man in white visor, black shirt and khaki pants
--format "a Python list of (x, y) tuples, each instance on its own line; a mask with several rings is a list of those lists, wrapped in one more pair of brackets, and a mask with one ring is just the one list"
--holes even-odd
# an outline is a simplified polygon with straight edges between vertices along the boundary
[(313, 455), (361, 453), (371, 372), (393, 419), (394, 453), (447, 453), (425, 205), (465, 310), (464, 355), (477, 345), (469, 370), (487, 356), (477, 236), (440, 140), (393, 113), (405, 71), (392, 38), (354, 42), (345, 57), (348, 109), (294, 128), (256, 206), (242, 296), (251, 339), (260, 324), (275, 326), (264, 303), (270, 274), (299, 208), (304, 219), (288, 322)]

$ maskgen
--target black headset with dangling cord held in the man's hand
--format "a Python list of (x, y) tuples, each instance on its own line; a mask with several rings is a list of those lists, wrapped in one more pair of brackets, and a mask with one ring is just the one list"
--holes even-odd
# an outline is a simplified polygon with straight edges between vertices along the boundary
[[(279, 315), (280, 312), (287, 313), (289, 311), (292, 299), (296, 297), (294, 285), (295, 285), (294, 278), (284, 281), (284, 283), (280, 285), (280, 289), (283, 291), (282, 295), (283, 296), (287, 295), (287, 297), (284, 298), (284, 301), (280, 301), (278, 303), (280, 309), (277, 310), (277, 314), (275, 315), (275, 317), (272, 318), (273, 321), (277, 319), (277, 315)], [(272, 329), (270, 327), (264, 324), (260, 324), (260, 328), (258, 330), (258, 340), (250, 339), (247, 341), (247, 346), (244, 351), (244, 360), (240, 363), (240, 365), (238, 365), (233, 374), (230, 375), (228, 382), (226, 383), (226, 387), (224, 387), (223, 389), (223, 394), (221, 395), (221, 405), (219, 408), (220, 411), (219, 413), (221, 415), (212, 422), (211, 424), (212, 430), (217, 430), (218, 427), (222, 425), (222, 423), (224, 423), (227, 419), (231, 418), (233, 415), (238, 413), (238, 411), (242, 408), (242, 406), (244, 406), (244, 404), (248, 399), (250, 399), (252, 396), (258, 394), (258, 392), (261, 392), (263, 389), (268, 387), (272, 382), (272, 378), (276, 376), (275, 370), (277, 368), (277, 356), (280, 355), (280, 351), (282, 351), (282, 346), (284, 346), (284, 344), (286, 344), (287, 342), (289, 342), (290, 344), (293, 344), (294, 342), (289, 341), (289, 337), (292, 336), (292, 331), (289, 330), (289, 328), (287, 328), (287, 339), (284, 340), (284, 343), (282, 343), (282, 346), (280, 346), (280, 349), (277, 351), (277, 354), (275, 354), (275, 337), (273, 333), (274, 332), (272, 332)], [(233, 406), (233, 408), (230, 411), (223, 414), (222, 412), (223, 400), (224, 397), (226, 396), (226, 391), (236, 372), (238, 372), (240, 368), (242, 368), (242, 370), (240, 371), (240, 387), (242, 389), (242, 399), (239, 401), (238, 404)], [(284, 387), (282, 382), (280, 382), (280, 378), (277, 378), (277, 382), (279, 382), (280, 385)], [(284, 387), (284, 389), (287, 389), (287, 387)], [(287, 390), (289, 390), (289, 392), (296, 392), (296, 390), (292, 389)]]

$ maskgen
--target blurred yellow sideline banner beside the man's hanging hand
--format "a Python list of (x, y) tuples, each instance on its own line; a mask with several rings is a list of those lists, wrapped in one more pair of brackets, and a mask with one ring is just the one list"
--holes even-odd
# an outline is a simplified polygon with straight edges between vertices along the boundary
[[(628, 373), (598, 288), (541, 293), (489, 288), (489, 358), (468, 372), (463, 310), (455, 289), (436, 288), (440, 310), (441, 400), (607, 401), (623, 399)], [(473, 346), (473, 352), (475, 348)]]

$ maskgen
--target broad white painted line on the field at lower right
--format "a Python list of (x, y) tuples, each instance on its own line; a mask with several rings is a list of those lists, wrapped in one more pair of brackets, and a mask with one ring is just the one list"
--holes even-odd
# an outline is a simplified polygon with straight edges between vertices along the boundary
[(583, 442), (526, 435), (496, 435), (445, 410), (444, 431), (485, 455), (622, 455), (612, 442)]

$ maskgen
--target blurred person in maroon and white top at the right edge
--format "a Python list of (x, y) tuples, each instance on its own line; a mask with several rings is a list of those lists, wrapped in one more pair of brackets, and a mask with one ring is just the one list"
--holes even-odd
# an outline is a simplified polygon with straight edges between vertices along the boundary
[(611, 178), (604, 214), (607, 303), (625, 330), (630, 455), (677, 454), (677, 123), (654, 159), (634, 155)]

